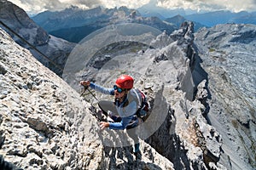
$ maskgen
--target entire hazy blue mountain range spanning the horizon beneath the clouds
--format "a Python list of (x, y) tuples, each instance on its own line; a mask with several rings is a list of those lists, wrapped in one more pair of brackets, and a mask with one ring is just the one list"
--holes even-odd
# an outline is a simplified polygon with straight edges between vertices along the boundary
[(201, 27), (212, 27), (224, 23), (256, 24), (256, 12), (231, 13), (215, 11), (206, 14), (189, 14), (184, 9), (166, 9), (148, 3), (137, 10), (120, 8), (91, 8), (84, 10), (75, 6), (61, 11), (45, 11), (32, 17), (38, 26), (49, 34), (61, 37), (69, 42), (79, 42), (91, 32), (102, 27), (124, 22), (153, 26), (168, 34), (177, 30), (185, 20), (194, 22), (195, 31)]

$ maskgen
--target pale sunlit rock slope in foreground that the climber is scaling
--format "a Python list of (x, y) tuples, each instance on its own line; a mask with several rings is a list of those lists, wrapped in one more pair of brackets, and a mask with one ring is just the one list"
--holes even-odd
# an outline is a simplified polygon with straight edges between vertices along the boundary
[(172, 162), (146, 143), (140, 158), (131, 147), (103, 146), (90, 104), (2, 29), (0, 37), (0, 154), (5, 161), (23, 169), (172, 169)]

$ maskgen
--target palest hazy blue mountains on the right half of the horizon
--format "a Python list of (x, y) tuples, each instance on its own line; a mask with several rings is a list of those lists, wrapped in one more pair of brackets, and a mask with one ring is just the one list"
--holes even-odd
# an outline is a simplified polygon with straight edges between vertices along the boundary
[(230, 11), (219, 10), (214, 12), (197, 13), (191, 9), (166, 9), (156, 6), (156, 0), (151, 0), (150, 3), (143, 5), (137, 10), (142, 16), (150, 17), (157, 16), (161, 20), (172, 18), (176, 15), (181, 15), (186, 20), (201, 23), (203, 26), (212, 27), (217, 24), (236, 23), (236, 24), (254, 24), (256, 25), (256, 10), (252, 13), (242, 11), (232, 13)]

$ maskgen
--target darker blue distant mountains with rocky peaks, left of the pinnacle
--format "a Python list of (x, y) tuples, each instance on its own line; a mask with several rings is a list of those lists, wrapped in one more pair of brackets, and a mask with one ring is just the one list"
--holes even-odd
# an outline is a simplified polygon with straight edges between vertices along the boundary
[(137, 10), (126, 7), (111, 9), (98, 7), (89, 10), (71, 7), (59, 12), (45, 11), (32, 17), (32, 20), (42, 26), (49, 34), (69, 42), (79, 42), (93, 31), (121, 23), (153, 26), (160, 31), (166, 31), (168, 34), (177, 29), (175, 24), (154, 16), (143, 17)]

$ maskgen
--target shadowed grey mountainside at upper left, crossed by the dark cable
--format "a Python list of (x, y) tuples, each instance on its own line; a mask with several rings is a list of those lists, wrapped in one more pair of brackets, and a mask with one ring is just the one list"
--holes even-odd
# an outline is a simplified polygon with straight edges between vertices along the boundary
[[(0, 26), (13, 37), (15, 42), (24, 48), (30, 49), (41, 63), (61, 75), (61, 70), (64, 68), (67, 56), (73, 49), (74, 43), (50, 36), (31, 20), (23, 9), (6, 0), (0, 1), (0, 20)], [(22, 39), (17, 37), (14, 31)], [(25, 41), (31, 45), (28, 45)], [(38, 48), (40, 53), (35, 48)], [(50, 62), (49, 59), (53, 62)]]

